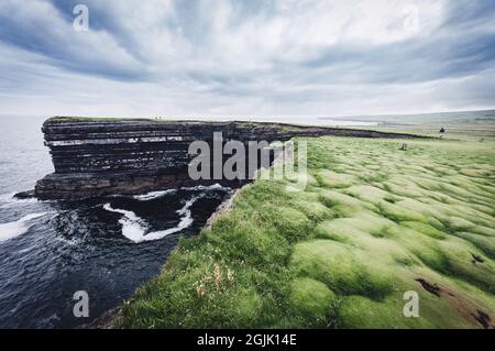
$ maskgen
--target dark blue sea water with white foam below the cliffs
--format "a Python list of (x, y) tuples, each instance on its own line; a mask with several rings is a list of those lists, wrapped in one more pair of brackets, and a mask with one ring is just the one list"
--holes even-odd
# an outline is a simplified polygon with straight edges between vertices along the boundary
[[(199, 232), (220, 186), (61, 202), (15, 200), (53, 172), (45, 118), (0, 117), (0, 328), (87, 323), (156, 276), (179, 237)], [(89, 318), (73, 314), (89, 295)]]

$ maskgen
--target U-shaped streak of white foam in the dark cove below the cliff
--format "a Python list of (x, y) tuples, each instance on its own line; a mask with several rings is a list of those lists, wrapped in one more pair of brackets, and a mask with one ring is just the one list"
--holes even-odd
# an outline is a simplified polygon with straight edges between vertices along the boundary
[(163, 239), (169, 234), (179, 232), (190, 224), (193, 224), (193, 213), (190, 211), (190, 207), (202, 196), (195, 196), (190, 200), (186, 201), (183, 208), (177, 210), (177, 215), (182, 216), (179, 223), (174, 228), (168, 228), (165, 230), (152, 231), (146, 233), (147, 223), (136, 216), (133, 211), (128, 211), (123, 209), (112, 208), (110, 204), (106, 204), (103, 208), (111, 212), (117, 212), (123, 215), (123, 217), (119, 220), (119, 223), (122, 224), (122, 235), (128, 238), (134, 243), (141, 243), (145, 241), (154, 241)]

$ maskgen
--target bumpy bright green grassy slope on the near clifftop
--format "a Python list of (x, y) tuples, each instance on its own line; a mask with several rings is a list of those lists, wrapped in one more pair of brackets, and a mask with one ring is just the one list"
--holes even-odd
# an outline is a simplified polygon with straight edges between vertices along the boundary
[[(258, 180), (183, 239), (118, 327), (476, 328), (495, 317), (493, 142), (308, 139), (309, 186)], [(438, 287), (437, 296), (417, 279)], [(405, 318), (416, 290), (420, 318)], [(486, 320), (486, 319), (485, 319)]]

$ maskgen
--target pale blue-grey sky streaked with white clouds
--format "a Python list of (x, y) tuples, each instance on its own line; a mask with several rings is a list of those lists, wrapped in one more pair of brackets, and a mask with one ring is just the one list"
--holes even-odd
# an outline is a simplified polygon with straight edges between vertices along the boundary
[(0, 0), (2, 114), (488, 109), (494, 63), (493, 0)]

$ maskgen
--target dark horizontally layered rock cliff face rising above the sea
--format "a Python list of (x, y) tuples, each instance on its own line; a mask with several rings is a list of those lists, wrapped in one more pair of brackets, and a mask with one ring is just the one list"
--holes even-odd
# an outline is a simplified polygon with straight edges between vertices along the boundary
[(242, 182), (193, 180), (189, 144), (223, 141), (287, 141), (294, 136), (410, 138), (411, 135), (276, 123), (195, 122), (53, 118), (42, 128), (55, 173), (38, 180), (40, 199), (82, 199), (113, 194), (142, 194), (180, 186)]

